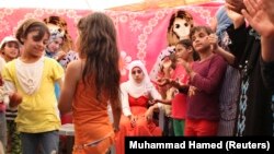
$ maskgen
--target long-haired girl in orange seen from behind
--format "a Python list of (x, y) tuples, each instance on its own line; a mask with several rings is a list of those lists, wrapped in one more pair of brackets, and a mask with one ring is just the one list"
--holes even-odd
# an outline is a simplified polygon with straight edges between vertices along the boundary
[[(104, 13), (94, 12), (78, 23), (79, 60), (69, 63), (59, 109), (72, 107), (75, 154), (103, 154), (114, 143), (121, 117), (116, 31)], [(113, 125), (107, 115), (111, 103)]]

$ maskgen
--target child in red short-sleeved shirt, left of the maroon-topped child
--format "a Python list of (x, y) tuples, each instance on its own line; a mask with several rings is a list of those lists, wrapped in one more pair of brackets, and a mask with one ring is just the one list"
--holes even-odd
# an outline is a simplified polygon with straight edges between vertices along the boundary
[[(175, 57), (176, 67), (173, 74), (170, 74), (170, 84), (172, 88), (178, 88), (180, 92), (190, 82), (190, 75), (186, 73), (185, 68), (182, 62), (191, 64), (197, 57), (192, 47), (192, 42), (190, 39), (182, 39), (175, 46)], [(173, 129), (175, 135), (184, 135), (185, 126), (185, 111), (186, 111), (186, 94), (176, 93), (171, 100), (172, 104), (172, 118), (173, 118)]]

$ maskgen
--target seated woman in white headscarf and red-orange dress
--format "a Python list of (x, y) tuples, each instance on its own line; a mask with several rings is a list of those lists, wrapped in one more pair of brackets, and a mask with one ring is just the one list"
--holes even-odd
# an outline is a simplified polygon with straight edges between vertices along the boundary
[[(129, 63), (128, 81), (121, 84), (123, 115), (116, 138), (116, 153), (124, 154), (125, 137), (162, 135), (162, 130), (153, 122), (152, 116), (159, 104), (149, 106), (150, 99), (161, 99), (144, 63)], [(148, 107), (149, 106), (149, 107)]]

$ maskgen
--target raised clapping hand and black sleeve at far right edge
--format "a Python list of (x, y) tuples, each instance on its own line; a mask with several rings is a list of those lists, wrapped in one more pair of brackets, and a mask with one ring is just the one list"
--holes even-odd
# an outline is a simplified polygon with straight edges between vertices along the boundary
[[(273, 14), (264, 7), (274, 5), (273, 1), (244, 1), (247, 11), (242, 14), (250, 25), (261, 35), (261, 72), (264, 85), (274, 91), (274, 21)], [(271, 8), (269, 8), (271, 9)]]

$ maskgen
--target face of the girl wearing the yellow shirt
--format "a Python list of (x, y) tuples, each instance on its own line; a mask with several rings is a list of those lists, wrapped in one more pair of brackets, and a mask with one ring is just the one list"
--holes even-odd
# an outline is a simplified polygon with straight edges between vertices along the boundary
[(48, 34), (38, 39), (38, 31), (30, 32), (24, 39), (24, 52), (31, 57), (42, 57), (48, 42)]

